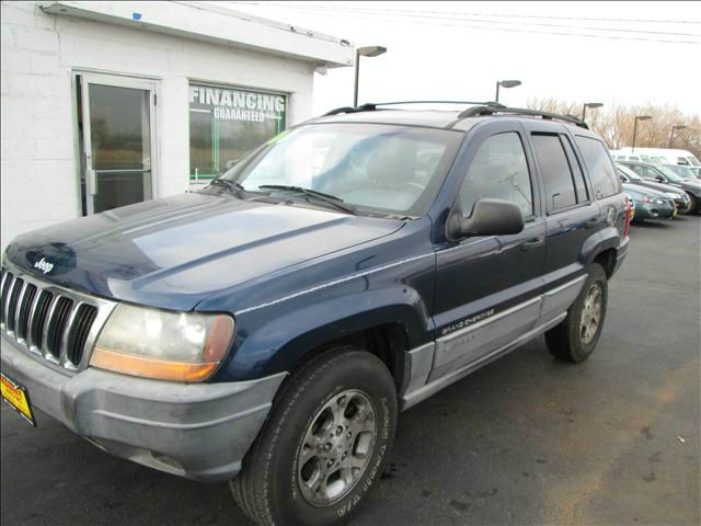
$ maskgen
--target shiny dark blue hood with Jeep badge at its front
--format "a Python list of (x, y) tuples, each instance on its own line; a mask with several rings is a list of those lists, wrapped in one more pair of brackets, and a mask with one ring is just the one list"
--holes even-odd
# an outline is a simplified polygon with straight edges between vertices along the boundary
[(16, 238), (8, 258), (107, 298), (189, 310), (210, 294), (388, 236), (404, 221), (188, 193)]

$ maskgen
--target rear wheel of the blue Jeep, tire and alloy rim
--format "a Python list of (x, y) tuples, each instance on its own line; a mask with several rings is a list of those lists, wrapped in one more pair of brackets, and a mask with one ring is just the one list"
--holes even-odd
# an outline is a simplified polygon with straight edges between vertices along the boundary
[[(587, 308), (587, 305), (596, 304), (595, 297), (598, 289), (598, 306)], [(593, 296), (594, 295), (594, 296)], [(550, 353), (556, 358), (578, 364), (589, 357), (596, 348), (606, 321), (606, 307), (608, 302), (608, 282), (604, 267), (593, 263), (587, 271), (587, 279), (575, 302), (567, 310), (567, 317), (550, 331), (545, 332), (545, 343)], [(596, 312), (598, 310), (598, 312)], [(584, 317), (591, 320), (587, 322)], [(594, 328), (594, 318), (596, 328)], [(585, 327), (586, 323), (586, 327)]]

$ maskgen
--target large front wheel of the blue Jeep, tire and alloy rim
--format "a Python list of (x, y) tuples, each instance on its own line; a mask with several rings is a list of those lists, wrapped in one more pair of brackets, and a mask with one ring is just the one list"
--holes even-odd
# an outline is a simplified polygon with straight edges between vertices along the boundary
[(317, 356), (277, 396), (230, 481), (234, 501), (260, 525), (346, 521), (383, 471), (397, 415), (394, 380), (379, 358), (353, 346)]

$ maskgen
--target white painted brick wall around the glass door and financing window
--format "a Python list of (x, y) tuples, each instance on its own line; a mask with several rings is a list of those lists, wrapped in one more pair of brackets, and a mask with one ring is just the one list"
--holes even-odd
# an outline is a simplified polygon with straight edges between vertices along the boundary
[(290, 93), (288, 123), (312, 107), (310, 62), (2, 2), (2, 249), (80, 216), (72, 71), (158, 78), (158, 196), (188, 186), (189, 79)]

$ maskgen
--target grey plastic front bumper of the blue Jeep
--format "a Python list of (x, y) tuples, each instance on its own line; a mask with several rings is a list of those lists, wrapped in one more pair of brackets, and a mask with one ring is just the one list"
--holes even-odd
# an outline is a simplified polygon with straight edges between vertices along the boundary
[(2, 371), (27, 389), (33, 409), (107, 453), (202, 481), (240, 471), (286, 376), (180, 384), (90, 367), (68, 376), (0, 341)]

